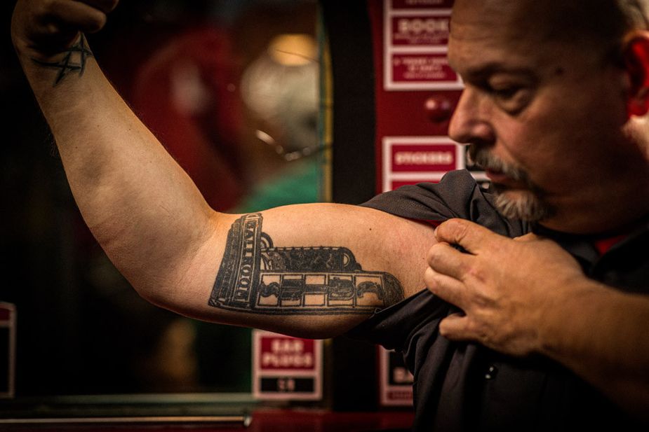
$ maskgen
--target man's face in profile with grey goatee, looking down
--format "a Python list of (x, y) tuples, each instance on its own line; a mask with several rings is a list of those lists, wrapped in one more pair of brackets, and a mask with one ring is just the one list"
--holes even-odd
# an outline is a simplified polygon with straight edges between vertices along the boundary
[(455, 1), (448, 55), (465, 90), (450, 136), (471, 144), (505, 216), (561, 229), (605, 204), (629, 150), (623, 69), (606, 47), (551, 37), (549, 3)]

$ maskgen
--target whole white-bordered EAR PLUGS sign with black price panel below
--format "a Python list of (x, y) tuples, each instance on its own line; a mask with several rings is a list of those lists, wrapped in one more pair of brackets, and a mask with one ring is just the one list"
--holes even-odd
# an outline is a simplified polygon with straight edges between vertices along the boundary
[(322, 341), (253, 330), (253, 396), (322, 398)]

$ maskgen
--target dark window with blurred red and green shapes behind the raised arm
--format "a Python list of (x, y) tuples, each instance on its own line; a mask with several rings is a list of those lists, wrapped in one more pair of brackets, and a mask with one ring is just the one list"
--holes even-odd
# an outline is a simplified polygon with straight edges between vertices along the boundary
[[(83, 224), (0, 3), (0, 301), (16, 396), (250, 391), (250, 330), (141, 300)], [(88, 36), (110, 81), (220, 211), (326, 198), (317, 4), (123, 1)]]

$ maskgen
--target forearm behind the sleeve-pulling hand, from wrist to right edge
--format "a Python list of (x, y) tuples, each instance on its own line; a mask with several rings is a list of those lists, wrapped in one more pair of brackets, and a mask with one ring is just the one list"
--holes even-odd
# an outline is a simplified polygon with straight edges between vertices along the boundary
[(541, 354), (648, 420), (649, 297), (582, 281), (551, 305), (540, 326)]

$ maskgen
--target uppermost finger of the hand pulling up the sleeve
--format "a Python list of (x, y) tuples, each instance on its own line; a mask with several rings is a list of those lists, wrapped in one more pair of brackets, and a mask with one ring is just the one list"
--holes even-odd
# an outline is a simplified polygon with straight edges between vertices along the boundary
[(491, 242), (505, 238), (464, 219), (449, 219), (441, 223), (435, 230), (435, 236), (438, 242), (460, 245), (469, 253), (479, 253), (481, 249), (491, 247)]

